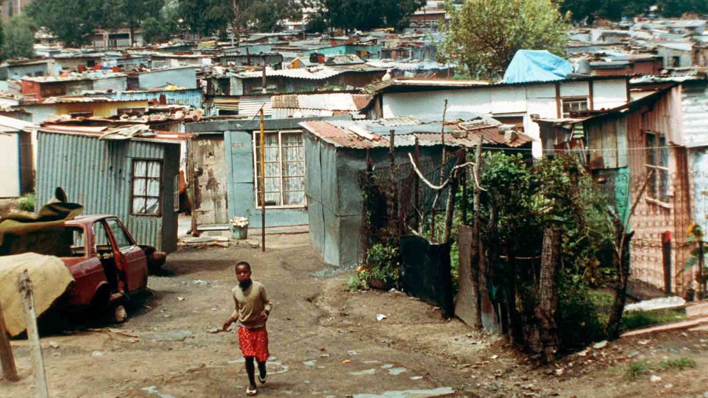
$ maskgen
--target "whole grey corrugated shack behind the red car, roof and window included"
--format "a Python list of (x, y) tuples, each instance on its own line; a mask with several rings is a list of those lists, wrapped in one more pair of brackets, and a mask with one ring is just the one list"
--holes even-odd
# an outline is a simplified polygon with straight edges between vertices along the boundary
[(84, 214), (116, 215), (139, 244), (175, 251), (181, 140), (144, 126), (42, 127), (37, 203), (61, 186)]

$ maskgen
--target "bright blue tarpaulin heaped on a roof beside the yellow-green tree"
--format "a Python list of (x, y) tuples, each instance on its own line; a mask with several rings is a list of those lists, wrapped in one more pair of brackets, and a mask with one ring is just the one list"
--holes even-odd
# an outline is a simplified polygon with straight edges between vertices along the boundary
[(565, 79), (573, 65), (546, 50), (518, 50), (504, 72), (504, 83)]

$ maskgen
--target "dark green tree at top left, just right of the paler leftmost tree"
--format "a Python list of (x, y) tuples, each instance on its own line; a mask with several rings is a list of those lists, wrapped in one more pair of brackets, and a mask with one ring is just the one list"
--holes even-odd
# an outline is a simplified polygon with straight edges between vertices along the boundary
[(80, 47), (101, 25), (110, 4), (91, 0), (34, 0), (25, 8), (39, 26), (57, 35), (67, 47)]

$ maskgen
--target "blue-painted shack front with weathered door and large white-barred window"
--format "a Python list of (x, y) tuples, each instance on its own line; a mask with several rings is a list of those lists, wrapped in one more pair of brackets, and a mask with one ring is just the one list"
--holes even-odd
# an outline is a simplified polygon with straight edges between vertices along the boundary
[[(265, 227), (308, 224), (302, 120), (265, 120)], [(235, 216), (249, 217), (250, 227), (261, 227), (258, 120), (188, 123), (185, 130), (195, 135), (187, 168), (193, 227), (228, 229)]]

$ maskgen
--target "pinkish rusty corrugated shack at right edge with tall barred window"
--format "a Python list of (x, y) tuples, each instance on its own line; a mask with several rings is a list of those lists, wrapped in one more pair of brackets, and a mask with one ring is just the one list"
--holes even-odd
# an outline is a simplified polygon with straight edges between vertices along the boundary
[(682, 272), (692, 198), (681, 115), (681, 89), (672, 86), (589, 118), (538, 120), (544, 153), (586, 160), (625, 219), (653, 172), (629, 222), (632, 278), (666, 292), (683, 292), (691, 279)]

